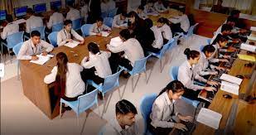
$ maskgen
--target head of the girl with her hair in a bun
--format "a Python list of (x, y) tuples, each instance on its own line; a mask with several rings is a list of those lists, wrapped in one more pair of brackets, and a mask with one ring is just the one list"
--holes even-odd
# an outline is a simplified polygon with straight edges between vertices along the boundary
[(199, 51), (191, 51), (189, 48), (186, 48), (184, 54), (186, 55), (186, 59), (190, 61), (191, 65), (196, 65), (200, 59)]

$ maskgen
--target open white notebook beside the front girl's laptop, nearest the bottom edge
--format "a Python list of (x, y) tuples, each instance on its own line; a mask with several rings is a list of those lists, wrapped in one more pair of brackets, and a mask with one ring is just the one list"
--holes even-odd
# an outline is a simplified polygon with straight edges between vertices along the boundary
[(218, 129), (221, 118), (222, 115), (220, 113), (216, 113), (208, 108), (201, 108), (196, 121), (211, 128)]

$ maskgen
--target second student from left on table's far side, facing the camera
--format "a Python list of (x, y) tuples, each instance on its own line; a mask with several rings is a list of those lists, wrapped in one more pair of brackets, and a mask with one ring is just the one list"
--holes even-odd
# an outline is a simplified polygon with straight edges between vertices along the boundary
[(63, 46), (65, 43), (72, 42), (73, 40), (80, 41), (80, 44), (84, 44), (84, 38), (72, 29), (72, 21), (65, 20), (64, 28), (57, 35), (57, 45)]

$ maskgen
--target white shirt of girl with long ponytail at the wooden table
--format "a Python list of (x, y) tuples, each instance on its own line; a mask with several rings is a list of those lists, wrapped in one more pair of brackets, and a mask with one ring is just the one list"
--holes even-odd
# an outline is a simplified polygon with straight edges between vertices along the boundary
[[(83, 94), (85, 91), (85, 83), (81, 78), (80, 72), (83, 67), (76, 63), (67, 63), (68, 71), (66, 73), (65, 80), (65, 96), (69, 98), (75, 98), (76, 96)], [(55, 66), (51, 70), (50, 75), (46, 75), (44, 82), (51, 84), (56, 81), (58, 67)]]

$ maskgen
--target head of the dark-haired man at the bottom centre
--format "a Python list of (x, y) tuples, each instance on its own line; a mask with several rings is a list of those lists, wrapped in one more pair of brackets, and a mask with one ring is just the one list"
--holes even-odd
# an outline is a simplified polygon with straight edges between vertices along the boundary
[(138, 113), (135, 106), (126, 99), (122, 99), (115, 104), (115, 113), (118, 123), (125, 127), (135, 123), (135, 115)]

